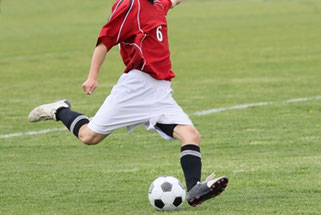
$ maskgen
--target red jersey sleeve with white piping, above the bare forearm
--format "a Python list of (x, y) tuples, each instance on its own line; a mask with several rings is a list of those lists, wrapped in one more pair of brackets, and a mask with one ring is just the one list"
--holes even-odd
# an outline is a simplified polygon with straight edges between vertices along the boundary
[(135, 16), (133, 0), (118, 0), (112, 7), (109, 17), (99, 34), (97, 45), (104, 43), (109, 51), (119, 42), (135, 35)]

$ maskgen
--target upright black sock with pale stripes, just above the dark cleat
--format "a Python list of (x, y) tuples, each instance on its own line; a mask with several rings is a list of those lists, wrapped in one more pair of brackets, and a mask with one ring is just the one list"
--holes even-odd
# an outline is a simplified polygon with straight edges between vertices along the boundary
[(200, 147), (185, 145), (181, 149), (181, 165), (184, 171), (187, 191), (201, 181), (202, 161)]

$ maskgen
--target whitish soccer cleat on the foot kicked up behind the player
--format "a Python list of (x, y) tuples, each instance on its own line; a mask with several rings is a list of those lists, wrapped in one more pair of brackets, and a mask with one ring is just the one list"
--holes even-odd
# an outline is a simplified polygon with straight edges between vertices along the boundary
[(38, 122), (38, 121), (45, 121), (45, 120), (56, 120), (56, 112), (60, 108), (71, 108), (71, 103), (67, 100), (60, 100), (57, 102), (44, 104), (36, 107), (33, 109), (29, 116), (28, 120), (30, 122)]

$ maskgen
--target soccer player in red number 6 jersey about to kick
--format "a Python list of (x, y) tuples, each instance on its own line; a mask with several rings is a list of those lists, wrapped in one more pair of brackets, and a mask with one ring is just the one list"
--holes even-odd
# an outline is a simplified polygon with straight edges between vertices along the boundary
[(99, 34), (88, 79), (82, 87), (91, 95), (98, 86), (98, 72), (107, 52), (119, 45), (126, 69), (95, 116), (71, 110), (68, 100), (36, 107), (29, 121), (56, 120), (80, 141), (95, 145), (114, 130), (137, 126), (156, 130), (166, 140), (182, 142), (181, 166), (187, 186), (187, 201), (196, 206), (219, 195), (226, 177), (209, 176), (201, 181), (200, 134), (172, 97), (170, 52), (166, 16), (182, 0), (117, 0)]

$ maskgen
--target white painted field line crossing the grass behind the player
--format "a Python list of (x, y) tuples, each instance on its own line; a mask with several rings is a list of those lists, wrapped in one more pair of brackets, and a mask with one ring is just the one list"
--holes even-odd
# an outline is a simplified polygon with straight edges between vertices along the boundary
[[(213, 108), (213, 109), (209, 109), (209, 110), (198, 111), (198, 112), (195, 112), (191, 115), (203, 116), (203, 115), (220, 113), (220, 112), (229, 111), (229, 110), (239, 110), (239, 109), (246, 109), (249, 107), (266, 106), (266, 105), (272, 105), (272, 104), (305, 102), (305, 101), (316, 100), (316, 99), (321, 99), (321, 96), (289, 99), (289, 100), (284, 100), (281, 102), (258, 102), (258, 103), (251, 103), (251, 104), (235, 105), (235, 106), (230, 106), (230, 107), (225, 107), (225, 108)], [(38, 131), (2, 134), (2, 135), (0, 135), (0, 139), (1, 138), (6, 139), (6, 138), (12, 138), (12, 137), (28, 136), (28, 135), (38, 135), (38, 134), (45, 134), (45, 133), (50, 133), (50, 132), (54, 132), (54, 131), (64, 131), (64, 130), (66, 130), (66, 128), (51, 128), (51, 129), (44, 129), (44, 130), (38, 130)]]

